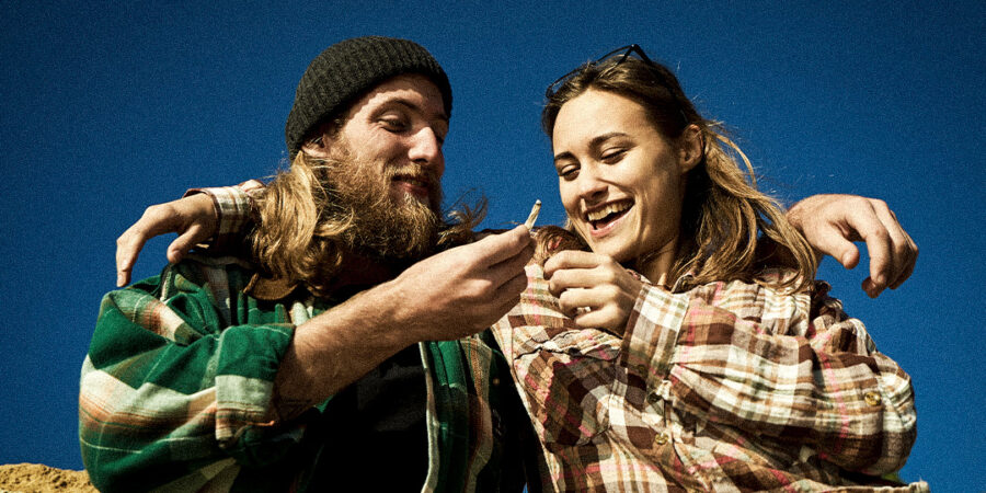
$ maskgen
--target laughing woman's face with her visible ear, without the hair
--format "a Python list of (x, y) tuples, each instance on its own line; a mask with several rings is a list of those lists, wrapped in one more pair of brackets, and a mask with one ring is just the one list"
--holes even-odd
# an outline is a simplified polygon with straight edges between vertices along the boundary
[(675, 145), (641, 125), (646, 121), (632, 100), (589, 90), (562, 106), (551, 140), (571, 226), (594, 252), (617, 262), (658, 252), (639, 267), (657, 279), (675, 255), (685, 176), (701, 159), (701, 138), (689, 131)]

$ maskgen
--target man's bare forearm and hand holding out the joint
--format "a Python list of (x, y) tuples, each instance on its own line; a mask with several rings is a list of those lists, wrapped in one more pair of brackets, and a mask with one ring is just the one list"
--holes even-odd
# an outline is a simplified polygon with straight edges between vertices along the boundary
[(534, 254), (525, 226), (425, 259), (299, 325), (275, 380), (294, 416), (402, 348), (485, 330), (519, 300)]

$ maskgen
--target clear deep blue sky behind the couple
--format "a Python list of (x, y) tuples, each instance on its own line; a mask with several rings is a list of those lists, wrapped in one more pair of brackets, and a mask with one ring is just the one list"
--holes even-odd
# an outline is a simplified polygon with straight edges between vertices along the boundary
[[(523, 220), (535, 198), (541, 223), (563, 220), (538, 127), (543, 89), (629, 43), (736, 130), (786, 203), (885, 198), (921, 249), (910, 280), (870, 300), (865, 267), (828, 260), (821, 276), (914, 379), (904, 479), (986, 490), (973, 313), (986, 275), (986, 3), (0, 3), (0, 463), (81, 469), (79, 368), (114, 288), (116, 237), (188, 187), (273, 173), (308, 62), (382, 34), (421, 43), (447, 70), (446, 194), (485, 194), (484, 227)], [(148, 245), (137, 277), (160, 271), (170, 240)]]

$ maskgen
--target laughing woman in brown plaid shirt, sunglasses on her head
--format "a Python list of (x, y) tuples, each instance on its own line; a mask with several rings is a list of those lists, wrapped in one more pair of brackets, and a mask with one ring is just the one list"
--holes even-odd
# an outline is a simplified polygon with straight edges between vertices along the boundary
[(567, 228), (539, 234), (548, 260), (494, 333), (546, 488), (888, 484), (916, 435), (908, 376), (812, 282), (811, 248), (675, 76), (624, 48), (555, 82), (542, 123)]

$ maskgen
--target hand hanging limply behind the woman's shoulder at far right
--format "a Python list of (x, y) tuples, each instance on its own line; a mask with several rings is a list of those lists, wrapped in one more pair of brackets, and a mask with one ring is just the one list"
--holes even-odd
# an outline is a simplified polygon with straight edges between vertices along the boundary
[(883, 200), (813, 195), (794, 204), (788, 219), (816, 252), (832, 255), (846, 268), (859, 263), (859, 250), (852, 242), (865, 241), (870, 276), (862, 282), (862, 289), (870, 298), (887, 287), (896, 289), (914, 272), (918, 248)]

